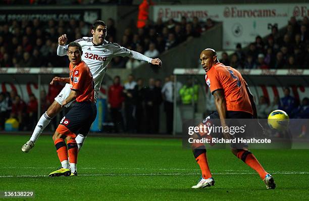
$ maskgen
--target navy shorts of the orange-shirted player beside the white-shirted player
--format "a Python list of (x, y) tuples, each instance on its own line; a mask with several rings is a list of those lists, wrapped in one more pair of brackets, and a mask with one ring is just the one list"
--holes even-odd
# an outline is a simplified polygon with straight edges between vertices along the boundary
[(86, 136), (96, 117), (96, 106), (89, 102), (75, 102), (70, 111), (62, 118), (57, 132), (76, 137), (78, 134)]

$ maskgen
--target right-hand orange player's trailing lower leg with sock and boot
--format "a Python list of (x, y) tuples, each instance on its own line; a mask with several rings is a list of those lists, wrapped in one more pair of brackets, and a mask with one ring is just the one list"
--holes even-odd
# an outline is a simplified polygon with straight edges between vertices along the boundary
[(232, 153), (245, 164), (251, 167), (253, 170), (259, 173), (261, 179), (266, 184), (268, 189), (276, 188), (276, 184), (272, 175), (264, 170), (259, 161), (254, 157), (254, 155), (247, 149), (232, 149)]

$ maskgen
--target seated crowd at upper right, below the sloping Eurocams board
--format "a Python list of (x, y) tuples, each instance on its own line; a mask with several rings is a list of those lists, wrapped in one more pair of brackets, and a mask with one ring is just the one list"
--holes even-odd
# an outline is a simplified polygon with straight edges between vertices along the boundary
[(291, 17), (284, 32), (273, 26), (265, 40), (256, 36), (244, 51), (241, 44), (231, 56), (222, 53), (223, 64), (237, 69), (305, 69), (309, 66), (309, 20)]

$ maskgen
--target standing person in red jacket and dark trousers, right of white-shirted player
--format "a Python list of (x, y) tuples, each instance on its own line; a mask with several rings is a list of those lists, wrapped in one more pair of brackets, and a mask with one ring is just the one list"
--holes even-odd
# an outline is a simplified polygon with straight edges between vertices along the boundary
[(111, 111), (112, 121), (114, 123), (114, 132), (119, 132), (119, 127), (121, 130), (124, 130), (124, 123), (121, 114), (123, 102), (124, 102), (124, 94), (123, 94), (123, 86), (120, 84), (120, 77), (117, 75), (114, 78), (113, 85), (110, 86), (108, 97), (109, 97), (109, 105)]

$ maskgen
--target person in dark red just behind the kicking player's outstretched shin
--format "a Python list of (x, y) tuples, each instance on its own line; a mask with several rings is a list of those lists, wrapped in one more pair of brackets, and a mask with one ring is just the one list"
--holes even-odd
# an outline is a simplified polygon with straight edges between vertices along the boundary
[(27, 130), (33, 130), (37, 121), (37, 100), (34, 94), (29, 95), (29, 102), (27, 104), (28, 124)]

